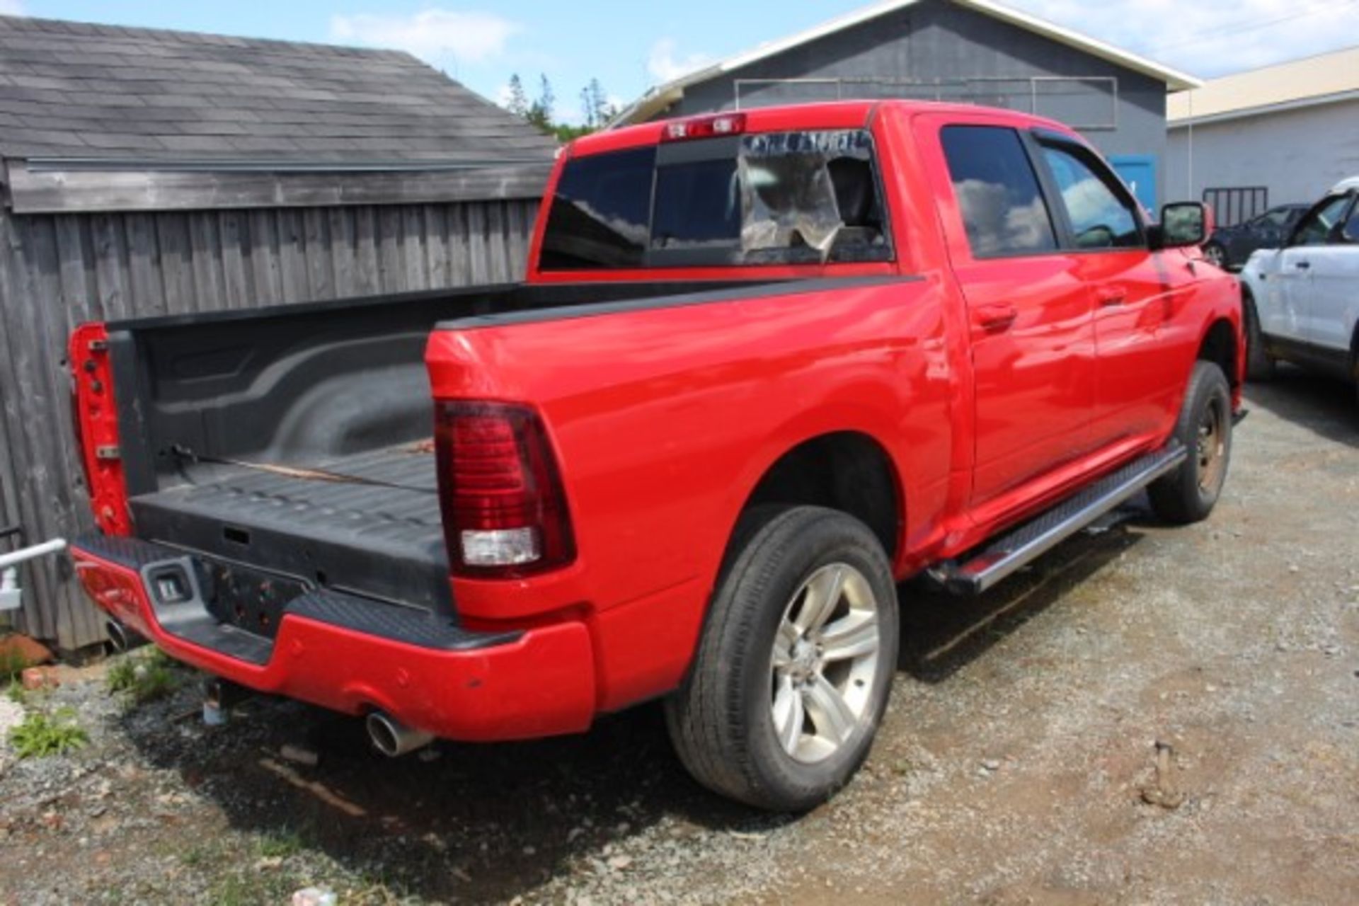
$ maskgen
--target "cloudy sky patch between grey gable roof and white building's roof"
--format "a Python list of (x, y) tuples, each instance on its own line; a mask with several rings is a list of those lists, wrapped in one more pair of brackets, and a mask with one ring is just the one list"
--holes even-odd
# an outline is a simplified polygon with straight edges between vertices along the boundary
[(1352, 0), (1010, 0), (1049, 22), (1190, 75), (1212, 77), (1351, 46)]

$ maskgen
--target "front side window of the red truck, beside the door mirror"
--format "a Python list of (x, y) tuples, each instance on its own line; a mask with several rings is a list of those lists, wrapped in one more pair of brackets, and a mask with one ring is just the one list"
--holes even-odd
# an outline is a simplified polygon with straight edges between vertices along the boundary
[(1078, 249), (1136, 249), (1142, 230), (1132, 201), (1113, 185), (1113, 177), (1086, 152), (1065, 145), (1042, 147), (1044, 160), (1061, 193)]

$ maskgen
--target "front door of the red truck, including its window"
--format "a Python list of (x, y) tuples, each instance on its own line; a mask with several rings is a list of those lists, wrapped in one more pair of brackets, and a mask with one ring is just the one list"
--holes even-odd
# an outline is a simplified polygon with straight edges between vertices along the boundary
[(1196, 338), (1177, 333), (1176, 312), (1195, 292), (1196, 265), (1180, 250), (1148, 250), (1137, 202), (1093, 151), (1048, 136), (1036, 145), (1063, 246), (1078, 258), (1095, 307), (1091, 440), (1158, 432), (1188, 378), (1192, 356), (1177, 346)]

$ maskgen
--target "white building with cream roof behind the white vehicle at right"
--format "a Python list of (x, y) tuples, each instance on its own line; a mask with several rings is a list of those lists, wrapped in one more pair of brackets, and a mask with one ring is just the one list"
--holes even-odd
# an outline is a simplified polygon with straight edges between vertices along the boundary
[(1166, 197), (1233, 224), (1359, 175), (1359, 46), (1214, 79), (1166, 99)]

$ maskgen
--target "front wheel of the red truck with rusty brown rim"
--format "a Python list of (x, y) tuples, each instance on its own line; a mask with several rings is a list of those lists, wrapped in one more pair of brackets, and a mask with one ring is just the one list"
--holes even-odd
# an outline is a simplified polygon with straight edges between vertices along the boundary
[(1200, 522), (1216, 505), (1231, 463), (1231, 387), (1216, 363), (1195, 363), (1173, 436), (1189, 456), (1147, 489), (1151, 508), (1166, 522)]

